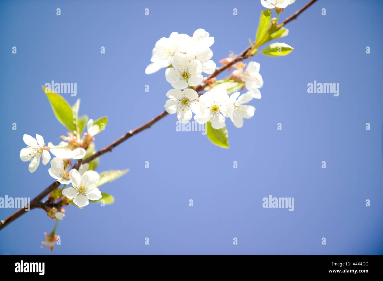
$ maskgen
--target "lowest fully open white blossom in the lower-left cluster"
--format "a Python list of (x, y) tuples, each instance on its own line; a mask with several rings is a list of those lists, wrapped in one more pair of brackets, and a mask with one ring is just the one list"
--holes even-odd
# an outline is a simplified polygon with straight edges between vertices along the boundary
[(73, 199), (79, 207), (87, 206), (89, 200), (100, 199), (101, 192), (97, 187), (92, 187), (100, 180), (100, 175), (95, 171), (86, 171), (80, 175), (79, 171), (72, 169), (69, 171), (69, 179), (72, 182), (72, 187), (62, 190), (62, 195), (69, 199)]

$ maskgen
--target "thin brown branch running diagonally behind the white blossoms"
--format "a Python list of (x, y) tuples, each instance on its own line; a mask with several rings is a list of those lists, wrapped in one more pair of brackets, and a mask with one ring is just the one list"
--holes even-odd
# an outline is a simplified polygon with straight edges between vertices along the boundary
[[(296, 11), (293, 15), (291, 15), (290, 17), (288, 17), (287, 19), (285, 19), (282, 23), (283, 24), (286, 24), (288, 23), (289, 21), (293, 20), (293, 19), (296, 19), (298, 17), (298, 15), (300, 13), (302, 13), (304, 10), (306, 10), (309, 6), (311, 6), (314, 2), (316, 2), (317, 0), (311, 0), (309, 3), (307, 3), (306, 5), (304, 5), (300, 10)], [(241, 54), (237, 55), (234, 60), (232, 60), (230, 63), (228, 64), (225, 64), (223, 66), (221, 66), (220, 68), (217, 68), (211, 75), (208, 76), (208, 78), (204, 81), (207, 81), (213, 77), (216, 77), (219, 73), (221, 73), (222, 71), (228, 69), (231, 65), (233, 65), (234, 63), (236, 62), (239, 62), (241, 60), (244, 60), (246, 57), (246, 53), (251, 49), (251, 45), (249, 47), (247, 47), (245, 50), (243, 50), (241, 52)], [(202, 91), (203, 88), (205, 87), (205, 82), (202, 82), (201, 84), (199, 84), (198, 86), (196, 86), (194, 89), (196, 92), (199, 92), (199, 91)], [(99, 150), (97, 153), (93, 154), (92, 156), (89, 156), (87, 159), (85, 160), (77, 160), (76, 164), (74, 165), (74, 169), (79, 169), (80, 165), (83, 164), (83, 163), (87, 163), (87, 162), (90, 162), (92, 161), (93, 159), (97, 158), (98, 156), (104, 154), (104, 153), (107, 153), (107, 152), (111, 152), (113, 148), (115, 148), (117, 145), (119, 145), (120, 143), (122, 143), (123, 141), (127, 140), (128, 138), (130, 138), (131, 136), (134, 136), (136, 135), (137, 133), (147, 129), (147, 128), (150, 128), (151, 125), (153, 125), (155, 122), (159, 121), (160, 119), (162, 119), (163, 117), (165, 117), (168, 113), (166, 111), (164, 112), (161, 112), (159, 115), (157, 115), (156, 117), (154, 117), (152, 120), (150, 120), (149, 122), (145, 123), (144, 125), (141, 125), (140, 127), (132, 130), (132, 131), (129, 131), (127, 132), (125, 135), (121, 136), (120, 138), (118, 138), (117, 140), (113, 141), (113, 143), (111, 143), (110, 145), (108, 146), (105, 146), (103, 149)], [(31, 210), (34, 209), (34, 208), (43, 208), (46, 206), (45, 203), (42, 203), (40, 202), (41, 200), (43, 200), (44, 197), (46, 197), (49, 193), (51, 193), (54, 189), (56, 189), (57, 187), (59, 187), (60, 183), (59, 182), (53, 182), (51, 185), (49, 185), (49, 187), (47, 187), (43, 192), (41, 192), (37, 197), (35, 197), (31, 202), (30, 202), (30, 206), (31, 206)], [(8, 218), (0, 221), (0, 230), (3, 229), (3, 227), (7, 226), (8, 224), (10, 224), (12, 221), (14, 221), (15, 219), (17, 219), (18, 217), (20, 217), (22, 214), (25, 214), (25, 208), (21, 208), (19, 210), (17, 210), (15, 213), (11, 214)]]

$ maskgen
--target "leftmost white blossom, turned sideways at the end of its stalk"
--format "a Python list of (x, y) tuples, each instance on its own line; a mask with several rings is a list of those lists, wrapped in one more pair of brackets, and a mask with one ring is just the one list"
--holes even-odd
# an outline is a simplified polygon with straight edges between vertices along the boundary
[(39, 134), (36, 134), (36, 138), (24, 135), (23, 140), (28, 147), (20, 150), (20, 159), (24, 162), (31, 161), (28, 170), (33, 173), (40, 164), (41, 156), (43, 157), (43, 164), (46, 165), (51, 159), (51, 154), (44, 149), (44, 138)]

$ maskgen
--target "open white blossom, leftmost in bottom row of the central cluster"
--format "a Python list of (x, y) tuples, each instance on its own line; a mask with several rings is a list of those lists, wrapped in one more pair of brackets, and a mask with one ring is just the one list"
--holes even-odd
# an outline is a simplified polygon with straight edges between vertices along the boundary
[(193, 113), (200, 114), (200, 104), (198, 94), (193, 89), (176, 90), (172, 89), (166, 93), (169, 99), (165, 103), (165, 109), (168, 113), (177, 113), (178, 121), (188, 122)]

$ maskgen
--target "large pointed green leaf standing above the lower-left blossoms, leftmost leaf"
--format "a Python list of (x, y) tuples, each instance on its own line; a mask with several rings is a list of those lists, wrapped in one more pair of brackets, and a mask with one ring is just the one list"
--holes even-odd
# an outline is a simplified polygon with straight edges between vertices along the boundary
[(44, 86), (42, 87), (49, 99), (49, 102), (51, 103), (53, 113), (56, 116), (57, 120), (59, 120), (59, 122), (62, 125), (64, 125), (69, 130), (69, 132), (75, 131), (75, 119), (73, 117), (72, 108), (69, 106), (68, 102), (65, 101), (65, 99), (59, 94), (50, 91)]

